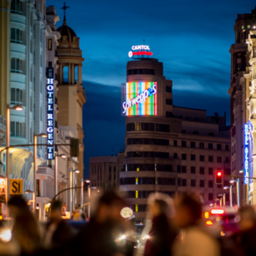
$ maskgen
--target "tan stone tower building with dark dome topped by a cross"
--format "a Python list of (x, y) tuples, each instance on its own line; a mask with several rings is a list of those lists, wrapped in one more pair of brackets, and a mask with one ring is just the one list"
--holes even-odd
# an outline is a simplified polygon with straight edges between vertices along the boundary
[[(63, 7), (67, 9), (66, 5)], [(74, 187), (80, 187), (83, 178), (83, 104), (86, 103), (86, 94), (83, 89), (82, 66), (83, 56), (80, 50), (79, 37), (67, 26), (66, 15), (61, 27), (57, 29), (61, 34), (57, 47), (58, 57), (58, 105), (57, 122), (64, 132), (67, 140), (78, 138), (80, 140), (79, 157), (72, 158), (78, 165), (78, 170), (73, 181)], [(72, 167), (70, 167), (72, 168)], [(74, 205), (80, 205), (80, 189), (75, 190)]]

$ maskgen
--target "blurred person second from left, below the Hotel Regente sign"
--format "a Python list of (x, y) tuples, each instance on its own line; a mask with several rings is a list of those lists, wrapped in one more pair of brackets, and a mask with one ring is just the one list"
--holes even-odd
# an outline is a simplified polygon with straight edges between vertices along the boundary
[(45, 249), (58, 249), (67, 246), (72, 239), (72, 228), (61, 219), (62, 203), (54, 200), (50, 205), (50, 221), (45, 228)]

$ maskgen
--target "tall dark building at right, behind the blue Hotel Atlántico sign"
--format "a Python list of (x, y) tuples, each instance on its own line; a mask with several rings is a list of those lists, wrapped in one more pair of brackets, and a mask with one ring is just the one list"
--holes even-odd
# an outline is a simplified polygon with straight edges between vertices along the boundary
[[(238, 15), (234, 26), (235, 43), (230, 47), (231, 74), (230, 74), (230, 133), (231, 133), (231, 173), (233, 178), (241, 176), (244, 166), (244, 124), (249, 120), (249, 109), (247, 107), (252, 91), (249, 87), (249, 53), (247, 51), (248, 37), (250, 31), (255, 30), (256, 9), (251, 13)], [(247, 75), (246, 75), (247, 74)], [(251, 101), (252, 102), (252, 101)], [(252, 162), (252, 159), (249, 160)], [(248, 201), (248, 189), (246, 181), (240, 179), (241, 204)], [(236, 184), (233, 185), (236, 192)]]

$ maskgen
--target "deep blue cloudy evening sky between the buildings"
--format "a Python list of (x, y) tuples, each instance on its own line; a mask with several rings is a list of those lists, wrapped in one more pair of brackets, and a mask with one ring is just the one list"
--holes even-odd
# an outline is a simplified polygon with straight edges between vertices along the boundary
[[(48, 1), (61, 18), (64, 2)], [(173, 80), (173, 104), (230, 116), (230, 45), (238, 13), (255, 9), (253, 0), (66, 1), (67, 25), (83, 50), (84, 165), (89, 157), (117, 154), (124, 147), (121, 83), (126, 82), (128, 51), (149, 45)]]

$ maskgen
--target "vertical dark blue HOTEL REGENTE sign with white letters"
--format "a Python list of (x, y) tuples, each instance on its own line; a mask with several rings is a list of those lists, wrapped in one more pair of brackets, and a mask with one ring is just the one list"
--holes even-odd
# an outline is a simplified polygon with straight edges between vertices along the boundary
[(54, 69), (48, 67), (46, 71), (47, 76), (47, 159), (54, 159), (53, 154), (53, 132), (54, 132)]

